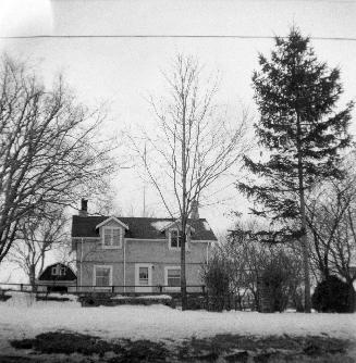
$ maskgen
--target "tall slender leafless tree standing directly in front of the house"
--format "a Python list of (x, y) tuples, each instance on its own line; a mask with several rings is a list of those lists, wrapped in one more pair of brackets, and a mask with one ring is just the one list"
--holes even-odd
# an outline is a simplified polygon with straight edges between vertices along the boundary
[(186, 309), (188, 216), (194, 203), (208, 200), (210, 187), (246, 151), (247, 114), (231, 125), (226, 115), (219, 113), (213, 103), (217, 82), (206, 80), (201, 66), (192, 57), (177, 55), (171, 72), (163, 76), (167, 97), (150, 100), (158, 123), (155, 137), (144, 133), (148, 152), (134, 137), (131, 141), (167, 211), (180, 220), (182, 308)]

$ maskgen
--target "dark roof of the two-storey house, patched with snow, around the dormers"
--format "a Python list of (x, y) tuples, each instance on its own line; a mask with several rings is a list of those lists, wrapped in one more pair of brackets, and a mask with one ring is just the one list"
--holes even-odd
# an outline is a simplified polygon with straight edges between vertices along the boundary
[[(78, 216), (73, 215), (72, 237), (99, 237), (96, 226), (108, 220), (108, 216)], [(116, 217), (128, 226), (126, 238), (164, 239), (162, 227), (176, 220), (173, 218), (146, 218), (146, 217)], [(217, 240), (208, 222), (205, 218), (188, 220), (194, 228), (193, 240)]]

